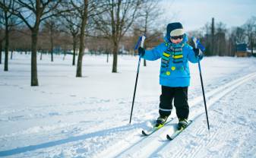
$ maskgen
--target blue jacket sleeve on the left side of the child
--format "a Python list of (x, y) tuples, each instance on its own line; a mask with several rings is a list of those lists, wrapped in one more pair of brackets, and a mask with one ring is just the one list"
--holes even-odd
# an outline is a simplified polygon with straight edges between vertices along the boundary
[(161, 43), (160, 45), (156, 46), (151, 50), (146, 50), (142, 58), (145, 58), (146, 60), (150, 60), (150, 61), (156, 60), (158, 58), (161, 58), (161, 55), (163, 54), (164, 50), (165, 50), (165, 45), (164, 43)]

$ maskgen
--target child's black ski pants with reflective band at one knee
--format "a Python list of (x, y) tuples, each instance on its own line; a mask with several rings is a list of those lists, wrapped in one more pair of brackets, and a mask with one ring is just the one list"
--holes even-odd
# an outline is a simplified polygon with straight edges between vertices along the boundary
[(172, 100), (176, 109), (176, 115), (179, 119), (188, 119), (188, 87), (166, 87), (162, 86), (160, 96), (159, 113), (163, 116), (169, 116), (172, 112)]

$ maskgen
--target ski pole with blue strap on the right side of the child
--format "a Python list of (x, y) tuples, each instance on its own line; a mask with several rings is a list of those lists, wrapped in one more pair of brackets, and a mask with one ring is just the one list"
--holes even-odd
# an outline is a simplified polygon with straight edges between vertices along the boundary
[[(205, 48), (204, 48), (203, 45), (201, 45), (199, 40), (197, 40), (194, 36), (192, 37), (192, 40), (194, 42), (195, 48), (199, 48), (200, 51), (204, 52)], [(202, 87), (203, 96), (204, 96), (204, 109), (205, 109), (205, 114), (206, 114), (206, 118), (207, 118), (207, 125), (208, 125), (208, 130), (210, 130), (208, 113), (207, 113), (207, 105), (206, 105), (206, 100), (205, 100), (205, 95), (204, 95), (203, 77), (202, 77), (202, 73), (201, 73), (201, 65), (200, 65), (200, 59), (199, 58), (198, 58), (198, 68), (199, 68), (199, 74), (200, 74), (200, 79), (201, 79), (201, 87)]]

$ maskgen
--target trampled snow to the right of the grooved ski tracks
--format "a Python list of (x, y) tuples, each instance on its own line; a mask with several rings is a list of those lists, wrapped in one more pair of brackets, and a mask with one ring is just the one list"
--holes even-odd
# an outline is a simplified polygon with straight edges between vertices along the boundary
[[(197, 128), (191, 125), (186, 134), (166, 146), (158, 157), (255, 157), (256, 117), (251, 107), (255, 105), (256, 94), (251, 91), (256, 91), (255, 85), (243, 84), (214, 103), (210, 107), (210, 131), (205, 127), (204, 116), (200, 116), (194, 123)], [(238, 113), (236, 109), (241, 110)]]

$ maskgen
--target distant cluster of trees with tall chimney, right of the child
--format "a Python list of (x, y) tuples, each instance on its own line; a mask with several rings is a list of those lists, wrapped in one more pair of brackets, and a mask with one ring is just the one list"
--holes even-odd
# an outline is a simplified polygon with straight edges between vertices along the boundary
[(206, 55), (234, 56), (236, 45), (241, 43), (247, 44), (252, 54), (256, 47), (256, 17), (251, 17), (240, 27), (229, 29), (223, 22), (215, 23), (213, 18), (211, 23), (191, 34), (200, 37), (206, 46)]

